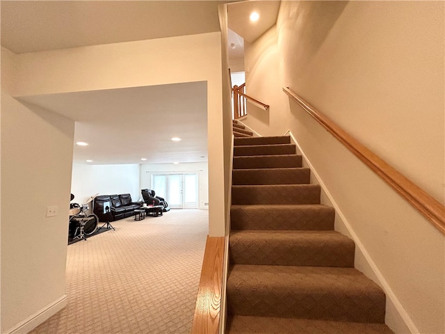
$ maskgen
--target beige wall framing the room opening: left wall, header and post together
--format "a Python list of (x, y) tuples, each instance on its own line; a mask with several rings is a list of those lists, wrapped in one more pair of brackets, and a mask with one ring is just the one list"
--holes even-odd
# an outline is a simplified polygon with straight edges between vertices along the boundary
[[(5, 80), (2, 77), (1, 87), (2, 331), (51, 308), (49, 304), (63, 295), (67, 241), (67, 211), (63, 212), (63, 208), (68, 208), (69, 202), (74, 132), (74, 122), (54, 113), (31, 110), (12, 97), (207, 81), (209, 234), (224, 235), (220, 33), (31, 54), (4, 51), (2, 74), (12, 75)], [(8, 93), (3, 94), (3, 88), (8, 88)], [(8, 154), (13, 159), (7, 159)], [(25, 193), (25, 189), (40, 190)], [(24, 198), (26, 207), (21, 202)], [(59, 216), (41, 216), (42, 207), (47, 205), (58, 205)], [(17, 209), (22, 214), (18, 215)], [(23, 217), (31, 219), (31, 228), (24, 228)], [(36, 231), (38, 234), (34, 234)], [(10, 237), (13, 233), (14, 237)], [(28, 255), (26, 260), (29, 252), (25, 250), (40, 249), (41, 244), (41, 250), (35, 251), (35, 256)], [(17, 259), (23, 259), (24, 264)], [(51, 266), (47, 267), (49, 262)]]

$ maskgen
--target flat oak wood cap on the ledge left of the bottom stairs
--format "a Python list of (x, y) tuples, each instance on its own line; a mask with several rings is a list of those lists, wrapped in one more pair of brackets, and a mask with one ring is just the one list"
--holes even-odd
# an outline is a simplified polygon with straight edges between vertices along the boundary
[(191, 331), (193, 334), (216, 334), (219, 331), (224, 242), (225, 237), (207, 236)]

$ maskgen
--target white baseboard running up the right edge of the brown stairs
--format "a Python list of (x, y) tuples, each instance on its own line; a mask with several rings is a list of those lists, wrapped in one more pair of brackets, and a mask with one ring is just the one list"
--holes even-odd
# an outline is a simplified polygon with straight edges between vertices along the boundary
[[(366, 263), (361, 263), (360, 267), (366, 266), (366, 269), (369, 269), (373, 272), (374, 280), (377, 280), (378, 285), (382, 287), (382, 289), (385, 291), (385, 294), (387, 295), (387, 310), (395, 310), (396, 314), (393, 314), (394, 316), (398, 316), (398, 319), (392, 319), (391, 321), (387, 321), (387, 324), (389, 326), (392, 325), (393, 328), (391, 328), (396, 333), (407, 333), (407, 331), (410, 331), (410, 333), (420, 333), (419, 330), (416, 328), (414, 322), (412, 321), (410, 315), (406, 312), (405, 308), (403, 307), (402, 303), (398, 300), (396, 294), (394, 294), (393, 289), (389, 286), (387, 280), (385, 280), (385, 277), (382, 275), (380, 270), (377, 267), (377, 264), (372, 260), (371, 255), (366, 251), (366, 248), (364, 247), (364, 244), (362, 241), (360, 241), (359, 237), (357, 237), (357, 234), (355, 234), (352, 226), (348, 222), (348, 219), (343, 215), (343, 212), (341, 212), (339, 206), (337, 205), (337, 202), (335, 202), (334, 198), (332, 198), (330, 192), (327, 190), (325, 184), (323, 183), (323, 180), (321, 180), (321, 177), (316, 172), (314, 166), (309, 162), (309, 160), (306, 157), (305, 152), (303, 152), (302, 148), (296, 141), (296, 138), (293, 136), (291, 130), (288, 130), (285, 134), (286, 136), (291, 136), (291, 141), (296, 145), (299, 154), (302, 155), (302, 160), (305, 166), (309, 167), (311, 170), (311, 183), (312, 180), (314, 180), (314, 183), (319, 184), (321, 186), (322, 191), (322, 203), (323, 203), (323, 197), (325, 196), (325, 202), (323, 204), (330, 205), (334, 207), (336, 212), (336, 222), (342, 224), (346, 230), (348, 230), (349, 236), (351, 239), (355, 241), (356, 247), (356, 260), (357, 260), (357, 252), (359, 253), (359, 257), (364, 259)], [(323, 196), (324, 195), (324, 196)], [(362, 268), (360, 268), (362, 269)], [(394, 312), (393, 312), (394, 313)], [(397, 328), (396, 328), (397, 327)]]

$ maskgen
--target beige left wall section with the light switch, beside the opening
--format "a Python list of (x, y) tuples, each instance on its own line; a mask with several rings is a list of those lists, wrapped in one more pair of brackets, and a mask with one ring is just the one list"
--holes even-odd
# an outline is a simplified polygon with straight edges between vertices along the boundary
[[(45, 313), (50, 305), (47, 317), (66, 303), (74, 122), (11, 97), (3, 83), (12, 79), (7, 73), (13, 55), (2, 50), (1, 56), (1, 71), (6, 74), (1, 78), (1, 333), (5, 333), (37, 312)], [(58, 207), (58, 216), (47, 218), (48, 205)]]

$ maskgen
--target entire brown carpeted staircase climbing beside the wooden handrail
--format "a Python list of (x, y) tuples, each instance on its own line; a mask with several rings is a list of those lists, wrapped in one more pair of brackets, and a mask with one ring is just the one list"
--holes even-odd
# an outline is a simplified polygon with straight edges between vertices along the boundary
[(384, 292), (354, 269), (354, 241), (334, 231), (290, 137), (238, 129), (226, 333), (392, 333)]

